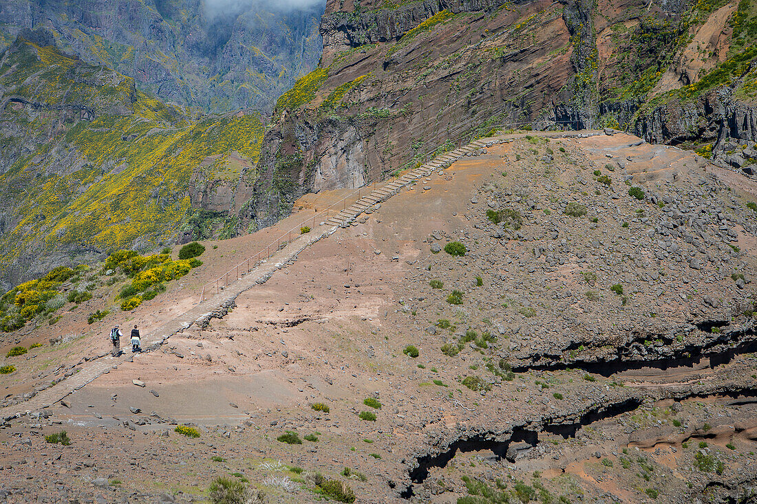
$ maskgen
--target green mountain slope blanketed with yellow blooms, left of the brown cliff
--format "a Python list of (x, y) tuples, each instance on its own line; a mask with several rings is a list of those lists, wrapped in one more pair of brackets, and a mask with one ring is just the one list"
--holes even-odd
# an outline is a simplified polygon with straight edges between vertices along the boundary
[[(246, 200), (255, 171), (240, 179), (239, 169), (257, 161), (259, 116), (188, 114), (130, 77), (63, 54), (45, 33), (26, 36), (0, 59), (5, 282), (202, 235), (213, 210)], [(210, 210), (193, 214), (193, 202)]]

